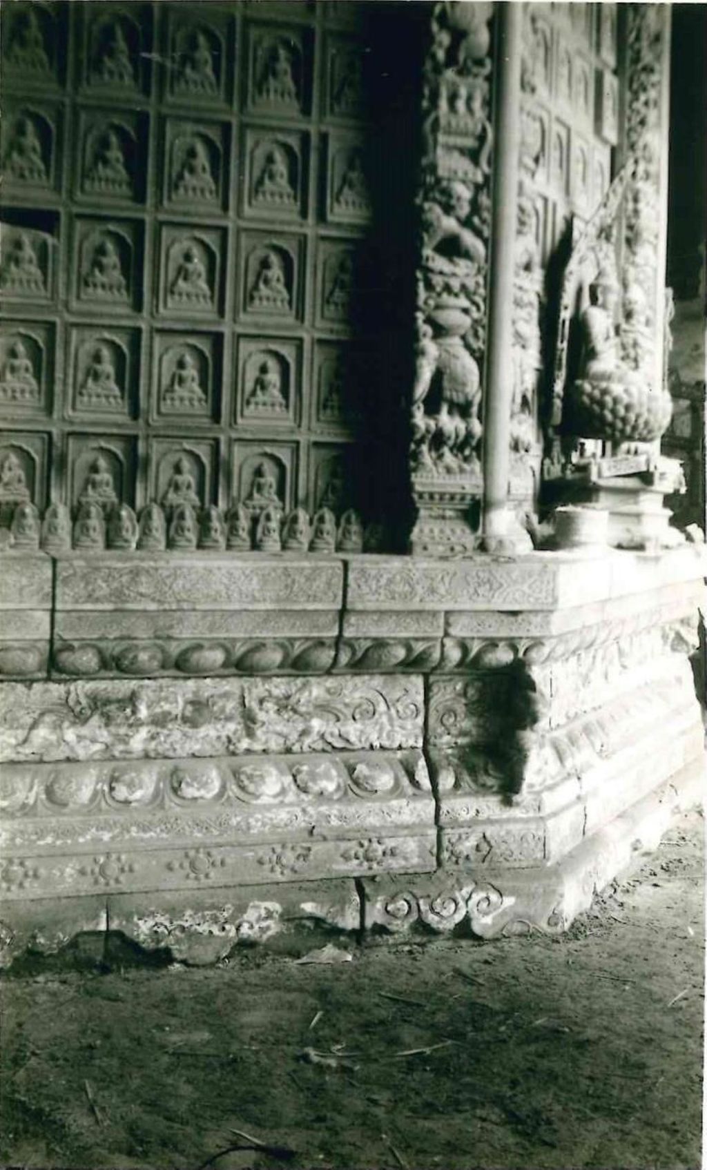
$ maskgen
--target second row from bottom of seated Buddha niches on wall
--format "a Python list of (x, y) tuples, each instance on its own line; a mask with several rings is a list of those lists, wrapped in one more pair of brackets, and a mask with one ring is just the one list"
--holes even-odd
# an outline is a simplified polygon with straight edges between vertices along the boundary
[[(373, 358), (351, 343), (158, 331), (151, 362), (129, 326), (70, 326), (63, 379), (49, 322), (6, 323), (0, 333), (0, 418), (54, 414), (98, 424), (355, 427), (370, 405)], [(229, 371), (232, 371), (229, 373)]]

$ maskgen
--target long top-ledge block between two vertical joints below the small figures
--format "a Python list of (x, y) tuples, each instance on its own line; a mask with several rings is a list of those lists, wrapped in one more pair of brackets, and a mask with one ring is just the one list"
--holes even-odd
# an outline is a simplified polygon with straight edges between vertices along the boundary
[(336, 559), (104, 553), (61, 557), (57, 610), (332, 610), (342, 603)]

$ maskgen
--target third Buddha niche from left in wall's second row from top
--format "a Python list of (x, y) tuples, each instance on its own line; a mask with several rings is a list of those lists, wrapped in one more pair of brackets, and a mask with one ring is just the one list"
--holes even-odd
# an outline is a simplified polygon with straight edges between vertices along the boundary
[(228, 126), (221, 122), (165, 125), (164, 201), (183, 214), (225, 211), (228, 204)]

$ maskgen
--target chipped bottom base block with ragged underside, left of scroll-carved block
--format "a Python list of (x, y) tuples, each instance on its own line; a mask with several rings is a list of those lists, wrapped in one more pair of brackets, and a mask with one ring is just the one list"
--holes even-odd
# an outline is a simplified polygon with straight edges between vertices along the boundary
[(354, 881), (281, 882), (247, 890), (190, 889), (173, 894), (111, 894), (111, 930), (144, 950), (169, 949), (191, 965), (214, 963), (236, 945), (267, 943), (281, 934), (317, 928), (355, 931), (361, 906)]

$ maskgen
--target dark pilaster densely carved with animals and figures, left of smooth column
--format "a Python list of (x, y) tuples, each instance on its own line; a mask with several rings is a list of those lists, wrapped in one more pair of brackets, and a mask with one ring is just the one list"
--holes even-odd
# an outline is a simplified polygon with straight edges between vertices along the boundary
[(410, 469), (414, 552), (467, 552), (481, 496), (490, 184), (490, 4), (437, 4), (424, 77), (417, 362)]

